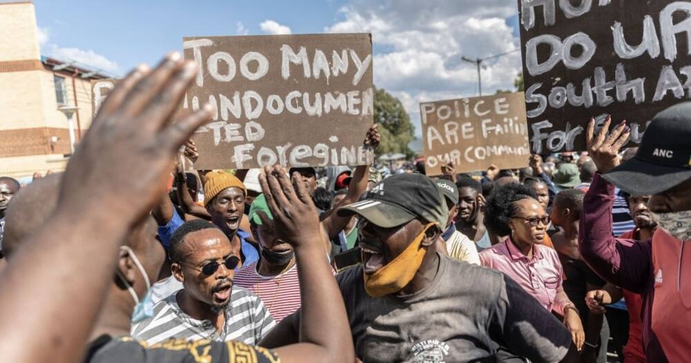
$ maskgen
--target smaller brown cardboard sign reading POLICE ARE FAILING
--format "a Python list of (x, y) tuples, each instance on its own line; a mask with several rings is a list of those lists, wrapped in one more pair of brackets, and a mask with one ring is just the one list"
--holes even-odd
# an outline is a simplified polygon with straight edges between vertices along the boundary
[(524, 167), (530, 155), (523, 93), (420, 104), (426, 174)]

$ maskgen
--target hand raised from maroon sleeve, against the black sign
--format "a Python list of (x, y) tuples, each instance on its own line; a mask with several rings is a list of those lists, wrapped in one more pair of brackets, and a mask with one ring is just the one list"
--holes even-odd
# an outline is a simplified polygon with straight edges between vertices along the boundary
[(591, 118), (585, 133), (588, 154), (593, 159), (600, 174), (605, 174), (619, 165), (621, 162), (619, 149), (626, 145), (631, 135), (630, 127), (626, 125), (626, 120), (623, 120), (607, 136), (607, 130), (609, 130), (611, 123), (612, 117), (608, 116), (600, 132), (594, 135), (595, 119)]

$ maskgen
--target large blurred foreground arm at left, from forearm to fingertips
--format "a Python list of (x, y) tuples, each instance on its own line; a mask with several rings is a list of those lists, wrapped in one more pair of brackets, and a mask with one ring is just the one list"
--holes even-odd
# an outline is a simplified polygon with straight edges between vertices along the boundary
[(118, 248), (163, 194), (180, 145), (211, 117), (205, 105), (171, 122), (195, 75), (173, 53), (108, 96), (68, 162), (53, 218), (0, 274), (1, 362), (82, 360)]

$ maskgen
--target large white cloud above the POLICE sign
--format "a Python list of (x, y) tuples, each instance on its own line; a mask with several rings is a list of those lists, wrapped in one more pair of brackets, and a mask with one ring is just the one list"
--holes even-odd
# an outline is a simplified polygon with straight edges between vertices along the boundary
[[(343, 19), (325, 32), (371, 32), (375, 84), (399, 97), (419, 130), (419, 102), (477, 94), (477, 68), (461, 57), (487, 57), (518, 48), (505, 19), (518, 12), (507, 0), (351, 0)], [(484, 95), (513, 89), (520, 52), (488, 59)]]

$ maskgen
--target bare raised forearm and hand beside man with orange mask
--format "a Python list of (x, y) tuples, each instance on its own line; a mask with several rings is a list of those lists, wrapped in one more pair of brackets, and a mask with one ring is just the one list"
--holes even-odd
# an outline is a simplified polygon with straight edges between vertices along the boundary
[[(301, 324), (299, 344), (276, 349), (282, 362), (354, 361), (352, 336), (345, 306), (331, 267), (324, 256), (319, 216), (299, 178), (281, 167), (265, 168), (259, 183), (274, 215), (276, 236), (295, 250), (300, 282)], [(290, 319), (290, 318), (289, 318)]]

